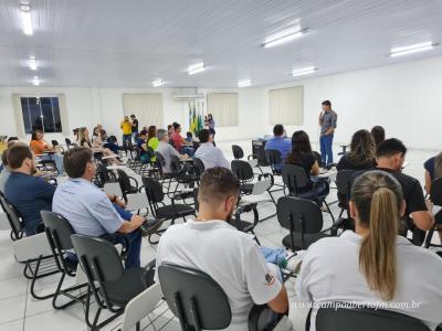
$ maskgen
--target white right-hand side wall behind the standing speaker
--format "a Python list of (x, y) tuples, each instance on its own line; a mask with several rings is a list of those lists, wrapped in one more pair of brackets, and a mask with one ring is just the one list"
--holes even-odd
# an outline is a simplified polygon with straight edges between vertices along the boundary
[(304, 125), (288, 127), (290, 135), (304, 129), (316, 141), (320, 103), (330, 99), (338, 114), (335, 142), (349, 142), (356, 130), (381, 125), (388, 137), (410, 148), (442, 149), (442, 57), (266, 87), (266, 122), (269, 89), (297, 85), (304, 85)]

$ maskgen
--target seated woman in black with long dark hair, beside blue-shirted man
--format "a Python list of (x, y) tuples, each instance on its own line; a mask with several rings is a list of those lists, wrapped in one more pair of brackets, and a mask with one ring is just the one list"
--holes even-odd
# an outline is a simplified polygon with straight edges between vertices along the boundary
[(329, 184), (326, 180), (313, 180), (312, 177), (319, 174), (317, 158), (312, 151), (311, 140), (305, 131), (295, 131), (292, 136), (292, 152), (285, 158), (284, 164), (294, 164), (304, 169), (308, 184), (298, 188), (298, 192), (307, 196), (313, 194), (327, 195)]

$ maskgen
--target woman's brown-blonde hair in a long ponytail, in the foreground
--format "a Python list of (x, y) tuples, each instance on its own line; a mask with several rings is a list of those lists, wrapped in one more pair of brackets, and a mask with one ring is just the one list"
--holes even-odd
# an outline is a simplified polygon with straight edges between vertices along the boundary
[(369, 229), (359, 250), (359, 269), (371, 290), (382, 300), (394, 297), (397, 286), (396, 241), (403, 195), (389, 173), (375, 170), (359, 177), (351, 189), (359, 223)]

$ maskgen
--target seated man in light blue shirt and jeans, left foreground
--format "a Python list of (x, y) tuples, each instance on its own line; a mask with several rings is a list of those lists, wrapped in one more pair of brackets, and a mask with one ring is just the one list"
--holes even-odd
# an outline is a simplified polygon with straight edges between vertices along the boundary
[(106, 194), (91, 181), (96, 166), (92, 150), (75, 147), (64, 153), (69, 179), (55, 191), (52, 211), (64, 216), (77, 234), (104, 236), (122, 234), (129, 241), (126, 269), (140, 267), (141, 233), (137, 231), (145, 218), (139, 215), (125, 221)]

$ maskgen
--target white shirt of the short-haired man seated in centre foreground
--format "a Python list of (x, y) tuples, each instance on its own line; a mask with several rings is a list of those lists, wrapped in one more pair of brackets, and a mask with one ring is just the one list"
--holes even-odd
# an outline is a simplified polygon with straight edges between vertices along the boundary
[[(282, 285), (249, 234), (224, 221), (188, 221), (170, 226), (157, 250), (157, 270), (164, 263), (190, 267), (211, 276), (224, 290), (232, 311), (225, 330), (248, 331), (253, 303), (274, 299)], [(158, 275), (155, 275), (158, 281)]]

